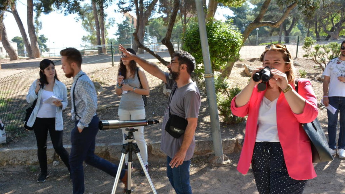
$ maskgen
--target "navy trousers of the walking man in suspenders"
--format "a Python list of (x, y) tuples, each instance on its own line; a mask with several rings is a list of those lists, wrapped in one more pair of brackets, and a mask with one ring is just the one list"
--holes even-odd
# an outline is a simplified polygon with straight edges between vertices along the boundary
[[(83, 161), (94, 166), (111, 176), (116, 176), (118, 165), (115, 165), (103, 158), (95, 155), (95, 139), (98, 132), (98, 117), (94, 116), (81, 133), (78, 131), (78, 122), (75, 122), (75, 127), (71, 132), (71, 155), (69, 157), (69, 164), (71, 166), (73, 193), (84, 193), (84, 170)], [(120, 179), (124, 177), (125, 171), (122, 170)]]

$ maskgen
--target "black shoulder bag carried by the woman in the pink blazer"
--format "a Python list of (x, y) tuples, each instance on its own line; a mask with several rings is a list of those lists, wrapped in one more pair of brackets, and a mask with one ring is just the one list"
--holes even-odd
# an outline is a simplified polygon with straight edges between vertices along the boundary
[[(295, 81), (295, 85), (298, 93), (298, 80)], [(310, 123), (302, 123), (302, 126), (311, 140), (313, 163), (332, 161), (333, 156), (329, 152), (327, 138), (319, 120), (315, 118)]]

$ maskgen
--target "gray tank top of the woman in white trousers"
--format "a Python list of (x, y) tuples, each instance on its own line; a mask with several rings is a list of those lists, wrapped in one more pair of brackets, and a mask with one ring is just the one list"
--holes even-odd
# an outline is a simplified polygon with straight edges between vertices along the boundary
[[(134, 78), (124, 79), (125, 84), (132, 87), (140, 88), (140, 82), (137, 74), (134, 74)], [(122, 110), (141, 110), (145, 109), (144, 100), (142, 100), (141, 94), (134, 93), (133, 91), (128, 91), (126, 94), (121, 95), (119, 109)]]

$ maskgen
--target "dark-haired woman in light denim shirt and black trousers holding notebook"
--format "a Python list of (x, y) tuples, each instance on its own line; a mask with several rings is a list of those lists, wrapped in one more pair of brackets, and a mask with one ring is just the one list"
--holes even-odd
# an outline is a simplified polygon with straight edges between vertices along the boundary
[[(33, 132), (35, 133), (37, 141), (37, 156), (41, 168), (41, 173), (38, 176), (37, 182), (45, 182), (48, 176), (48, 131), (56, 153), (61, 157), (68, 171), (70, 171), (68, 164), (69, 154), (62, 146), (62, 110), (67, 107), (68, 101), (66, 86), (59, 81), (53, 61), (43, 59), (40, 62), (39, 74), (40, 78), (32, 83), (29, 93), (26, 96), (26, 100), (30, 104), (37, 99), (36, 106), (30, 115), (27, 125), (33, 127)], [(52, 96), (59, 98), (59, 100), (53, 100), (52, 103), (44, 102)]]

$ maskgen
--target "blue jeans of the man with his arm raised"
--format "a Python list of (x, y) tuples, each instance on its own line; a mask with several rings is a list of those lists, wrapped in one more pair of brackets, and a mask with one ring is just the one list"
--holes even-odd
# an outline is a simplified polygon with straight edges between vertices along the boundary
[(191, 194), (192, 188), (189, 184), (190, 160), (183, 161), (182, 165), (174, 168), (171, 168), (171, 166), (169, 165), (170, 161), (171, 158), (167, 156), (167, 176), (176, 194)]

